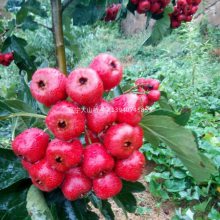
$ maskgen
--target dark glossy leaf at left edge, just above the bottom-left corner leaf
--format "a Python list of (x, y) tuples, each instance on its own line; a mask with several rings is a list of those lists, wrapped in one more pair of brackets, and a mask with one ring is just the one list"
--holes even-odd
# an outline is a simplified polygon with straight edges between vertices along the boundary
[(0, 149), (0, 173), (0, 190), (28, 178), (21, 161), (9, 149)]

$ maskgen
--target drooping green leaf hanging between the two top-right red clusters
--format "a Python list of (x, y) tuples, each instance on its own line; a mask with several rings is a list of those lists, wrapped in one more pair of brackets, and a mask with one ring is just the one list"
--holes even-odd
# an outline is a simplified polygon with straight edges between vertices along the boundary
[(153, 45), (156, 46), (168, 33), (170, 33), (170, 16), (169, 14), (173, 11), (171, 6), (165, 8), (163, 17), (156, 21), (153, 31), (150, 37), (144, 42), (143, 45)]

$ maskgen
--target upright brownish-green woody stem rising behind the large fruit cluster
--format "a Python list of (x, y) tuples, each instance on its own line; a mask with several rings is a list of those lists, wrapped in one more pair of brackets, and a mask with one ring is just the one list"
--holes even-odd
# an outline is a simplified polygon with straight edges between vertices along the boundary
[(66, 55), (63, 37), (61, 0), (50, 0), (52, 12), (53, 37), (56, 46), (56, 58), (59, 70), (67, 74)]

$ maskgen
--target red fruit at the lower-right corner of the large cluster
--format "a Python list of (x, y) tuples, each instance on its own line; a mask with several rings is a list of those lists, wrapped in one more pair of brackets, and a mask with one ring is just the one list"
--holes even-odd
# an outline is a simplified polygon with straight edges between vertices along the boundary
[(136, 182), (142, 174), (144, 164), (144, 155), (139, 151), (134, 151), (127, 159), (116, 162), (115, 173), (124, 180)]

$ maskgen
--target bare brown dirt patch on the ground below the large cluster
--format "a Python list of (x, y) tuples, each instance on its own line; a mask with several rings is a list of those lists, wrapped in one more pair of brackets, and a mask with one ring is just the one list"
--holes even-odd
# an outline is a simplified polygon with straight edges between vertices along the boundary
[[(160, 207), (157, 207), (158, 201), (150, 194), (148, 190), (148, 184), (144, 181), (144, 176), (149, 174), (155, 164), (149, 163), (144, 171), (144, 174), (140, 180), (142, 184), (145, 185), (146, 191), (142, 193), (136, 193), (138, 207), (145, 207), (146, 213), (138, 215), (136, 213), (128, 213), (128, 220), (170, 220), (174, 215), (174, 205), (171, 202), (163, 203)], [(113, 212), (115, 213), (116, 220), (126, 220), (126, 217), (122, 209), (118, 208), (117, 205), (110, 200)], [(100, 216), (100, 220), (104, 220), (103, 216)]]

